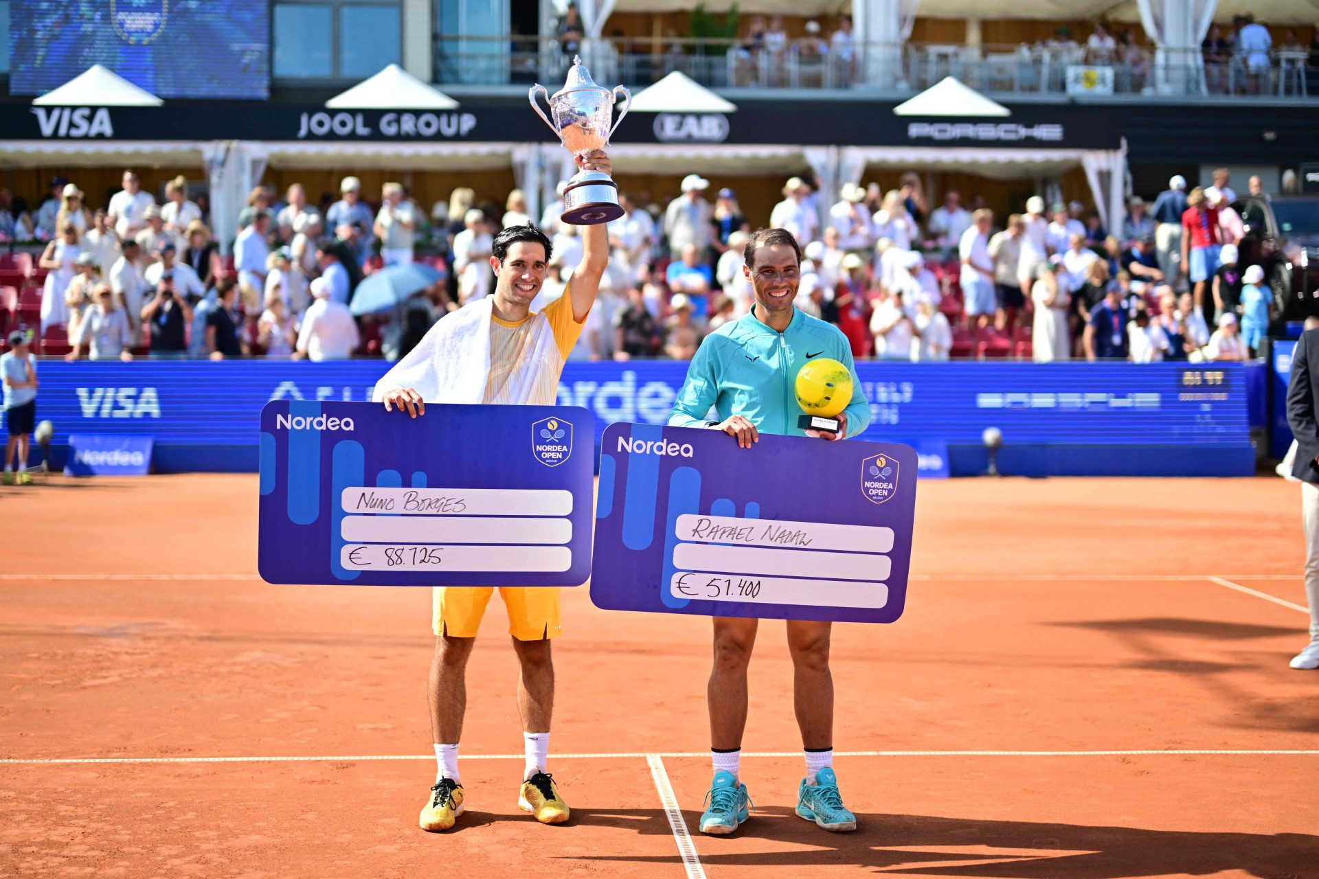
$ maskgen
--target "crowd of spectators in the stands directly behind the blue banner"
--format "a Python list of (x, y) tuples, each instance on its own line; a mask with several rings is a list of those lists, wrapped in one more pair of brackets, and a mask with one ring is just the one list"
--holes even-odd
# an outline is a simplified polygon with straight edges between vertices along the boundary
[[(1249, 186), (1261, 191), (1258, 178)], [(69, 358), (397, 358), (435, 320), (492, 293), (501, 228), (536, 221), (551, 236), (534, 310), (565, 293), (582, 258), (578, 227), (559, 219), (563, 184), (538, 217), (517, 190), (499, 204), (460, 187), (426, 213), (398, 183), (384, 184), (379, 207), (355, 177), (339, 188), (328, 204), (309, 204), (299, 184), (282, 200), (255, 188), (222, 257), (182, 178), (157, 204), (125, 171), (95, 212), (57, 178), (53, 198), (24, 215), (50, 239), (37, 260), (40, 336), (65, 343)], [(1006, 217), (951, 190), (935, 202), (914, 173), (889, 191), (847, 183), (836, 194), (793, 177), (764, 219), (698, 174), (679, 190), (667, 202), (621, 195), (611, 262), (571, 358), (690, 358), (752, 307), (743, 249), (760, 225), (797, 239), (797, 307), (836, 324), (857, 358), (1241, 360), (1274, 316), (1262, 268), (1240, 260), (1227, 169), (1203, 188), (1174, 177), (1153, 206), (1130, 199), (1113, 229), (1080, 202), (1038, 195)], [(437, 244), (430, 257), (417, 257), (423, 228)], [(364, 278), (418, 258), (429, 274), (402, 302), (353, 314)]]

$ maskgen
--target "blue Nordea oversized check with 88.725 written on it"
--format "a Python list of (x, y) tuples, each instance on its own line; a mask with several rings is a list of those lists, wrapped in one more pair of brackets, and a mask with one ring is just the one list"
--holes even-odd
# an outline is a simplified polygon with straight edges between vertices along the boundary
[(269, 582), (578, 586), (595, 419), (566, 406), (277, 401), (261, 410)]

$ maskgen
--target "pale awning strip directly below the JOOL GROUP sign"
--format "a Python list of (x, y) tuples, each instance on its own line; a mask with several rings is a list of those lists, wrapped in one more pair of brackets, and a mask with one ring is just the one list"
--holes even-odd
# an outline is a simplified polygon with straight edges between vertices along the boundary
[[(396, 141), (261, 141), (270, 167), (479, 171), (510, 167), (514, 144)], [(611, 148), (611, 153), (613, 148)]]

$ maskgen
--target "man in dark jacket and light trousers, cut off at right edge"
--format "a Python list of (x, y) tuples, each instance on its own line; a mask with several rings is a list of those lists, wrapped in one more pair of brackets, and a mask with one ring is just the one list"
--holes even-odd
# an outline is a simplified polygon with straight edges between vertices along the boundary
[[(1307, 322), (1308, 323), (1308, 322)], [(1319, 668), (1319, 329), (1297, 343), (1287, 385), (1287, 423), (1297, 438), (1291, 474), (1301, 480), (1301, 521), (1306, 532), (1306, 600), (1310, 602), (1310, 646), (1293, 668)]]

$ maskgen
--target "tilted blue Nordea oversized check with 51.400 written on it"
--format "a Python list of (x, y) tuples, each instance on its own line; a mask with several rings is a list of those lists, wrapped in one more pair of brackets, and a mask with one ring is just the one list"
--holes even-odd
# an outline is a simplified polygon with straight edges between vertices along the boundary
[(611, 424), (591, 601), (609, 610), (893, 622), (906, 601), (909, 445)]

